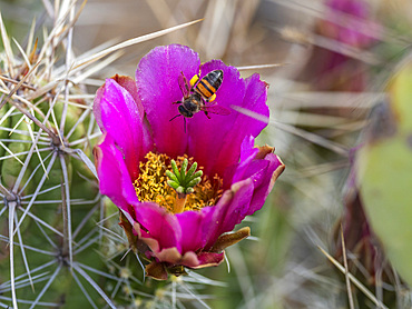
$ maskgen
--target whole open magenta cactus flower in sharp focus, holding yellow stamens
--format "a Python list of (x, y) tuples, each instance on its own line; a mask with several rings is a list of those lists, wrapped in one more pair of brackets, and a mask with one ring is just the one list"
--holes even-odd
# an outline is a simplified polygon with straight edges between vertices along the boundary
[[(200, 66), (196, 52), (178, 44), (155, 48), (140, 60), (136, 81), (115, 76), (95, 98), (104, 133), (95, 148), (100, 191), (121, 209), (131, 248), (150, 260), (146, 272), (157, 279), (219, 265), (224, 249), (249, 235), (248, 228), (230, 231), (262, 208), (284, 170), (273, 148), (254, 148), (265, 122), (234, 109), (197, 112), (186, 127), (184, 117), (170, 121), (183, 99), (179, 76), (200, 72), (202, 79), (213, 70), (224, 76), (217, 106), (268, 117), (267, 84), (258, 74), (242, 79), (219, 60)], [(185, 183), (194, 187), (175, 190)]]

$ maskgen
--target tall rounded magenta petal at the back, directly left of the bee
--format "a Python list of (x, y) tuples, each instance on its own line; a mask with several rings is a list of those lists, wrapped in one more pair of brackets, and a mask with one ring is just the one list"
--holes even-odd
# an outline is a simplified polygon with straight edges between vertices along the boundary
[(171, 158), (183, 154), (187, 147), (184, 120), (176, 114), (177, 104), (183, 99), (178, 84), (182, 72), (188, 80), (198, 73), (200, 66), (196, 52), (185, 46), (157, 47), (146, 54), (136, 70), (136, 82), (147, 119), (153, 129), (157, 151)]

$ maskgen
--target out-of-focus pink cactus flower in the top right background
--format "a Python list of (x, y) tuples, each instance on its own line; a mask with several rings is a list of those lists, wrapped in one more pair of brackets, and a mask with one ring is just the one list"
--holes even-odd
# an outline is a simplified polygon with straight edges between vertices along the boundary
[[(306, 79), (316, 90), (363, 91), (369, 70), (353, 56), (377, 42), (380, 24), (373, 20), (373, 12), (364, 0), (327, 0), (324, 6), (325, 19), (316, 22), (315, 32), (327, 38), (331, 47), (314, 48)], [(346, 53), (351, 51), (356, 52)]]

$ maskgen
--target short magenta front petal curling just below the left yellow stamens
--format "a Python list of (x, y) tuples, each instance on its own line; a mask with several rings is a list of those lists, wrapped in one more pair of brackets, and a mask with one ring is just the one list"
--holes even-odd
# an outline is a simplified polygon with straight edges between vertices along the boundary
[(141, 228), (148, 231), (145, 237), (157, 240), (159, 251), (176, 247), (182, 252), (182, 229), (176, 216), (154, 202), (140, 203), (135, 213)]

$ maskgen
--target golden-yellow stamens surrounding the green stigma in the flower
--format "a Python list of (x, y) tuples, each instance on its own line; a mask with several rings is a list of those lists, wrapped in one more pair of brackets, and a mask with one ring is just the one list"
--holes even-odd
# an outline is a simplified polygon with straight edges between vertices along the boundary
[[(194, 158), (188, 158), (186, 154), (177, 157), (176, 165), (179, 169), (185, 158), (189, 166), (194, 163)], [(145, 159), (139, 165), (140, 175), (134, 182), (139, 201), (154, 201), (168, 211), (175, 212), (177, 193), (167, 185), (166, 176), (166, 171), (171, 170), (171, 159), (166, 154), (153, 152), (148, 152)], [(194, 187), (195, 191), (187, 196), (184, 211), (200, 210), (206, 206), (216, 205), (223, 193), (222, 183), (223, 180), (217, 175), (213, 179), (205, 175), (202, 176), (202, 181)]]

